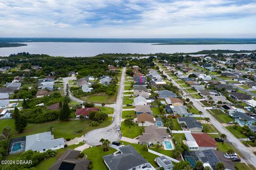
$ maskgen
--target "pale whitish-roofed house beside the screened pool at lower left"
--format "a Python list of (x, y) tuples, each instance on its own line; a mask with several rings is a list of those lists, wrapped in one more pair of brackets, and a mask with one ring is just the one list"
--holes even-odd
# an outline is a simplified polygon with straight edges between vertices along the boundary
[(25, 151), (33, 150), (45, 152), (46, 150), (57, 150), (64, 148), (65, 141), (63, 138), (54, 139), (51, 132), (44, 132), (26, 136)]

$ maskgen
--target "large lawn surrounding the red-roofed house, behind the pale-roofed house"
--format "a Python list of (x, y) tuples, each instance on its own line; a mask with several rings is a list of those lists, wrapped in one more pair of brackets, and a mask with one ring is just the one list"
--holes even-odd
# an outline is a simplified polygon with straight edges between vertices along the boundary
[[(45, 123), (29, 123), (27, 125), (26, 130), (23, 133), (18, 133), (18, 132), (14, 132), (13, 130), (13, 124), (10, 126), (11, 127), (11, 138), (14, 137), (23, 137), (26, 135), (30, 135), (30, 134), (36, 134), (36, 133), (42, 133), (42, 132), (46, 132), (47, 129), (50, 126), (53, 126), (55, 131), (53, 132), (54, 134), (54, 138), (70, 138), (70, 139), (74, 139), (75, 137), (81, 137), (83, 134), (85, 134), (86, 132), (89, 132), (91, 130), (94, 129), (98, 129), (98, 128), (104, 128), (108, 125), (111, 124), (112, 122), (112, 117), (108, 117), (108, 120), (104, 121), (103, 123), (101, 123), (99, 126), (96, 127), (91, 127), (89, 126), (89, 123), (91, 122), (91, 120), (84, 120), (84, 121), (80, 121), (80, 120), (69, 120), (67, 122), (63, 122), (63, 121), (52, 121), (52, 122), (45, 122)], [(2, 126), (2, 123), (1, 123)], [(81, 128), (83, 130), (82, 133), (76, 133), (76, 129)], [(14, 134), (14, 135), (13, 135)]]

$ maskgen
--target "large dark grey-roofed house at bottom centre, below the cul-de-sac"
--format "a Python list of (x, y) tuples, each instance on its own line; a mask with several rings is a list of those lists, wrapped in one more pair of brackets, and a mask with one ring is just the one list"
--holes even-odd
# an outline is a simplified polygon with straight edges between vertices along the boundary
[(103, 156), (103, 161), (109, 170), (142, 170), (151, 165), (131, 145), (120, 147), (120, 154)]

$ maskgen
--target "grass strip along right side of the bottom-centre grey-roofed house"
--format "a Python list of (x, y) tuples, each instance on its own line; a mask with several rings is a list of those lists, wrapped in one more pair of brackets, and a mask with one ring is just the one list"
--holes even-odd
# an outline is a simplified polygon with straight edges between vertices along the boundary
[(136, 149), (139, 154), (145, 158), (151, 165), (153, 165), (154, 167), (158, 167), (155, 163), (154, 160), (156, 157), (159, 157), (155, 154), (151, 154), (150, 152), (148, 152), (147, 150), (144, 150), (142, 145), (139, 144), (134, 144), (134, 143), (129, 143), (129, 142), (125, 142), (125, 141), (120, 141), (121, 143), (124, 143), (124, 145), (132, 145), (134, 149)]

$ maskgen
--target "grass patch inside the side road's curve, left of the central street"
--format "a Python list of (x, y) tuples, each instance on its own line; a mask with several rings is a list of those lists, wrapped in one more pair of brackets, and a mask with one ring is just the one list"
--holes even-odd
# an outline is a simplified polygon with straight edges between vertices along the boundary
[(108, 96), (104, 93), (93, 94), (81, 97), (84, 101), (89, 101), (92, 103), (105, 103), (105, 104), (113, 104), (116, 101), (116, 95)]

